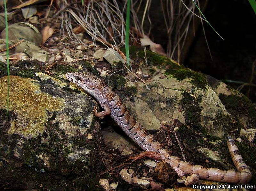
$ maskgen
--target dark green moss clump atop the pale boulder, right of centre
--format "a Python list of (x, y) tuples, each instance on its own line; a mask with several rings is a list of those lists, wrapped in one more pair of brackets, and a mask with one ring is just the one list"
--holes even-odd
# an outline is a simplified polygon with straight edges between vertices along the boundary
[(182, 81), (186, 77), (188, 77), (191, 84), (195, 85), (199, 89), (205, 90), (206, 86), (208, 85), (208, 82), (204, 74), (189, 69), (167, 69), (165, 71), (165, 74), (171, 75), (171, 77), (174, 77), (179, 81)]

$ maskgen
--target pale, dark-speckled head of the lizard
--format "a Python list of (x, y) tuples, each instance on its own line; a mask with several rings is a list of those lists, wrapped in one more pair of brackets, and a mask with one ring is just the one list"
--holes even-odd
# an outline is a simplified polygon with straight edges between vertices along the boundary
[(104, 83), (100, 78), (87, 72), (68, 72), (66, 73), (66, 77), (70, 82), (80, 86), (92, 95), (94, 95), (94, 92), (98, 91), (97, 87), (101, 83)]

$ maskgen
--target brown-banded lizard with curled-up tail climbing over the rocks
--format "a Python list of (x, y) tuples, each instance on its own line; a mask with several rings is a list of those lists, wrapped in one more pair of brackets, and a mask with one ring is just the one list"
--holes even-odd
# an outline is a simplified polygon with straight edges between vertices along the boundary
[(92, 95), (104, 109), (104, 111), (98, 113), (97, 107), (94, 106), (93, 112), (95, 116), (101, 117), (110, 114), (125, 134), (144, 151), (148, 151), (150, 153), (149, 155), (153, 155), (153, 158), (154, 154), (152, 154), (152, 151), (156, 152), (155, 156), (158, 158), (160, 156), (176, 172), (179, 170), (187, 175), (197, 174), (200, 179), (227, 183), (243, 184), (251, 180), (252, 174), (249, 167), (244, 163), (233, 139), (229, 138), (227, 143), (231, 158), (238, 172), (217, 168), (205, 168), (201, 165), (193, 165), (189, 162), (181, 161), (178, 157), (172, 156), (161, 143), (155, 141), (153, 136), (143, 129), (142, 125), (134, 119), (119, 96), (100, 78), (87, 72), (68, 72), (66, 73), (66, 77), (70, 82), (80, 86), (85, 92)]

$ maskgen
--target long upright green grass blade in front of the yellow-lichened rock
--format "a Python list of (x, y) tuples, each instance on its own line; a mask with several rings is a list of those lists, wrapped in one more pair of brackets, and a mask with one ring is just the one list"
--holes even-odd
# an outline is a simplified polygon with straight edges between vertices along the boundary
[(8, 110), (9, 110), (9, 92), (10, 92), (10, 67), (9, 67), (9, 43), (8, 43), (8, 22), (7, 22), (7, 8), (6, 1), (4, 0), (4, 13), (5, 13), (5, 28), (6, 28), (6, 56), (7, 56), (7, 105), (6, 105), (6, 121), (8, 119)]

